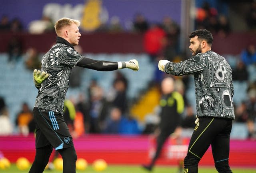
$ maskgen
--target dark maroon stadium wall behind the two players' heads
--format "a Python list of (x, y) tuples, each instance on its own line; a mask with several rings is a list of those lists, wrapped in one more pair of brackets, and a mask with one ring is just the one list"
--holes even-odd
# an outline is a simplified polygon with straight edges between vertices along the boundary
[[(0, 52), (6, 52), (8, 43), (13, 37), (22, 42), (24, 52), (34, 47), (39, 52), (45, 53), (56, 41), (56, 33), (36, 35), (1, 32)], [(82, 33), (79, 45), (84, 52), (90, 53), (145, 53), (143, 37), (143, 34), (138, 33)], [(214, 35), (212, 50), (220, 55), (238, 55), (249, 44), (256, 44), (255, 33), (230, 33), (227, 37)]]

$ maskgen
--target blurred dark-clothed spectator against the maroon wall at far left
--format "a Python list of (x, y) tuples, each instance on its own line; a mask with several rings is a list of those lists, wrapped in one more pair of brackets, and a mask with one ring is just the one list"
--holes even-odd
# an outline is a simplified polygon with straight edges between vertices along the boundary
[(13, 63), (22, 55), (22, 42), (17, 37), (12, 37), (8, 43), (8, 61)]

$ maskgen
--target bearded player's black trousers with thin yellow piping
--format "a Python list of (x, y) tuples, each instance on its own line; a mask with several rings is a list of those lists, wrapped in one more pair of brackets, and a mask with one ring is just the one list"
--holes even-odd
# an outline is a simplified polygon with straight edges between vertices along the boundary
[(184, 173), (198, 173), (198, 163), (210, 145), (217, 171), (232, 173), (228, 163), (231, 129), (232, 120), (200, 118), (188, 145), (188, 153), (184, 159)]

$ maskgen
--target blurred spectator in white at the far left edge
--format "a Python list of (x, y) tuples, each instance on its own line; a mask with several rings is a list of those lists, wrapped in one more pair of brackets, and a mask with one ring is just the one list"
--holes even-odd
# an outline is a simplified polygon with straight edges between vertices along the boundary
[(0, 136), (12, 134), (13, 126), (6, 109), (0, 111)]

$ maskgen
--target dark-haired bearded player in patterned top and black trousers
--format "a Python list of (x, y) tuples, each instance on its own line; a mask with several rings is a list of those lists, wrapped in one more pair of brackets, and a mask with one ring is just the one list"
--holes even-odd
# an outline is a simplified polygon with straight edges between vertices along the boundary
[(198, 29), (189, 35), (193, 57), (173, 63), (160, 60), (158, 68), (165, 73), (194, 75), (196, 110), (199, 119), (184, 159), (184, 173), (198, 173), (198, 163), (212, 145), (215, 168), (232, 173), (229, 166), (229, 141), (235, 119), (232, 69), (224, 57), (212, 51), (212, 33)]

